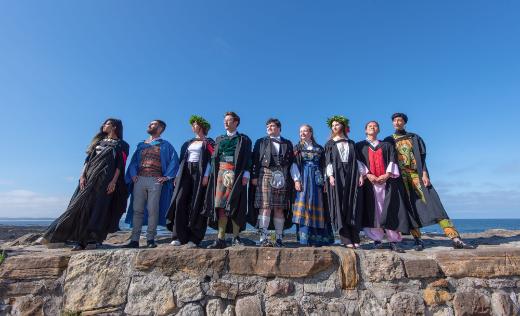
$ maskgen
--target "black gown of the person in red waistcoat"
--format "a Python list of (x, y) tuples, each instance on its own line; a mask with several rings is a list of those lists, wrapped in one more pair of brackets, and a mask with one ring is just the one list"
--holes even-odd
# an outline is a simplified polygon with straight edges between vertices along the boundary
[[(370, 169), (369, 150), (381, 148), (385, 171), (390, 162), (398, 164), (397, 155), (392, 144), (379, 142), (376, 147), (364, 140), (356, 144), (358, 159)], [(385, 186), (385, 200), (380, 219), (380, 227), (396, 230), (405, 234), (410, 232), (409, 203), (400, 178), (388, 178)], [(376, 203), (374, 185), (365, 179), (363, 184), (363, 227), (377, 227), (375, 218)]]

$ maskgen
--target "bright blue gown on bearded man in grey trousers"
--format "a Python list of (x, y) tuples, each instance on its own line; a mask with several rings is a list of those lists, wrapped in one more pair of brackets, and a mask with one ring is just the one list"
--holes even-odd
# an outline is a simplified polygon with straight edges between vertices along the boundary
[[(161, 169), (163, 176), (171, 178), (170, 180), (163, 183), (161, 199), (159, 202), (159, 225), (166, 225), (166, 212), (168, 212), (173, 195), (173, 178), (179, 169), (179, 156), (177, 155), (177, 152), (175, 151), (175, 148), (173, 148), (172, 144), (164, 139), (157, 139), (149, 144), (140, 142), (137, 145), (137, 149), (135, 150), (134, 154), (132, 155), (128, 169), (126, 170), (125, 181), (128, 184), (128, 191), (130, 192), (130, 204), (126, 212), (125, 223), (130, 224), (130, 226), (132, 226), (132, 218), (134, 215), (134, 182), (132, 181), (132, 177), (137, 176), (137, 173), (139, 172), (139, 166), (141, 164), (141, 151), (150, 146), (157, 145), (158, 143), (160, 144), (159, 146), (161, 148)], [(146, 210), (146, 207), (144, 212), (143, 225), (147, 225), (148, 211)]]

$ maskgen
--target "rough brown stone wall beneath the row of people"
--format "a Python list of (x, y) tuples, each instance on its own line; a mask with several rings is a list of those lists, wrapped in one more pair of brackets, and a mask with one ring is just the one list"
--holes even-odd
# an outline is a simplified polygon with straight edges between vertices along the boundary
[(2, 315), (515, 315), (520, 249), (163, 246), (0, 265)]

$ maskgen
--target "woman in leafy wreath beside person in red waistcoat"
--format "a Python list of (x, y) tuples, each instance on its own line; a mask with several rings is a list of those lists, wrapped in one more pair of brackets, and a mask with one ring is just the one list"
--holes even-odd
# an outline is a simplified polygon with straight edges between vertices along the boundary
[(340, 115), (327, 120), (332, 131), (325, 144), (326, 189), (334, 230), (349, 248), (359, 247), (362, 220), (362, 194), (355, 143), (348, 139), (348, 120)]

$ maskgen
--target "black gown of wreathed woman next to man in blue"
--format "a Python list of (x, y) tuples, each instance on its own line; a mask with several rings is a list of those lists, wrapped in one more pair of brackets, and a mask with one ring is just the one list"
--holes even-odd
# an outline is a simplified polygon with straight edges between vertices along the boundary
[[(187, 179), (187, 177), (190, 177), (188, 147), (197, 140), (196, 138), (190, 139), (181, 147), (181, 162), (175, 180), (177, 185), (173, 191), (172, 202), (166, 215), (166, 228), (173, 230), (175, 226), (177, 236), (182, 243), (188, 241), (200, 243), (204, 239), (208, 226), (208, 218), (202, 214), (204, 198), (206, 197), (206, 187), (202, 185), (202, 178), (206, 166), (211, 160), (215, 142), (211, 138), (206, 138), (202, 142), (201, 157), (198, 162), (199, 177), (193, 180), (194, 186), (189, 187), (190, 181)], [(175, 221), (176, 218), (178, 221)]]

